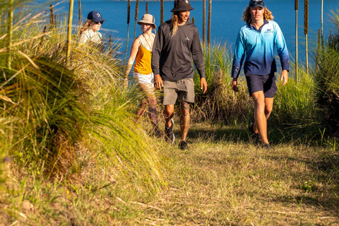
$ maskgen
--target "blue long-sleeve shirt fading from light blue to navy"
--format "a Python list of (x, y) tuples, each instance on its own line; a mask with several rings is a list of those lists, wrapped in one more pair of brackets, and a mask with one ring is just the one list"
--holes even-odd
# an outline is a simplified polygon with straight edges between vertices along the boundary
[(278, 23), (273, 20), (265, 20), (264, 25), (259, 30), (251, 24), (244, 25), (238, 33), (235, 44), (232, 78), (238, 78), (245, 54), (245, 75), (264, 76), (277, 71), (274, 59), (275, 47), (278, 49), (283, 70), (290, 71), (286, 42)]

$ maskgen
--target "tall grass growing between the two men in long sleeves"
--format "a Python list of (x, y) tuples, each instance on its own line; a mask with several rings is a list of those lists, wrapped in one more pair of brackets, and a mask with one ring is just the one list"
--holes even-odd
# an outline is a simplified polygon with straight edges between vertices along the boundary
[(232, 52), (227, 43), (215, 43), (203, 49), (206, 81), (208, 90), (205, 95), (200, 90), (198, 74), (194, 77), (196, 84), (196, 102), (194, 110), (196, 119), (216, 120), (233, 123), (251, 117), (251, 98), (247, 93), (246, 81), (239, 79), (239, 92), (231, 88)]

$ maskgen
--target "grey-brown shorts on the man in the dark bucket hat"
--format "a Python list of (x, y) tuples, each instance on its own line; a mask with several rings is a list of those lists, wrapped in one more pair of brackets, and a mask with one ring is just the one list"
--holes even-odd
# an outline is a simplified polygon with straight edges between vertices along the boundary
[(185, 78), (179, 81), (164, 81), (164, 97), (162, 105), (174, 105), (179, 100), (194, 102), (194, 81), (193, 78)]

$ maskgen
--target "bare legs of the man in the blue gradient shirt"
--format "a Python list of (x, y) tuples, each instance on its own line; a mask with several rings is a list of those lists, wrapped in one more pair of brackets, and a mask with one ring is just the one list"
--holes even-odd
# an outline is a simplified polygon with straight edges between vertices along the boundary
[[(263, 95), (263, 91), (258, 91), (256, 93), (252, 93), (252, 100), (254, 102), (254, 132), (258, 132), (261, 140), (263, 143), (268, 143), (267, 138), (267, 119), (270, 116), (270, 112), (272, 111), (273, 106), (273, 98), (265, 98)], [(270, 106), (270, 112), (268, 112), (269, 109), (267, 109), (266, 112), (266, 99), (272, 99), (272, 105)], [(270, 100), (268, 100), (270, 102)], [(267, 113), (267, 114), (266, 114)], [(267, 115), (267, 119), (266, 119)]]

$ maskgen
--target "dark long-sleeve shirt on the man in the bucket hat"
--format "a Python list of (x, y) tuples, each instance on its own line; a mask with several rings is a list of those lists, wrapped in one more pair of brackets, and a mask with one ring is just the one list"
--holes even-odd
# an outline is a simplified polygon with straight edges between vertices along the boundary
[(160, 74), (163, 81), (178, 81), (184, 78), (193, 78), (194, 64), (200, 75), (205, 78), (203, 49), (201, 48), (198, 28), (187, 21), (178, 26), (177, 34), (171, 37), (171, 20), (159, 26), (152, 53), (153, 73)]

